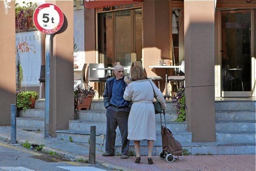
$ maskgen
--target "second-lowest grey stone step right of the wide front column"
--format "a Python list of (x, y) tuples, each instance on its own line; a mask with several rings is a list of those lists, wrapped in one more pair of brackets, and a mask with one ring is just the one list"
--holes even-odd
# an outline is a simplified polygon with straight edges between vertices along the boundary
[(255, 143), (256, 131), (216, 132), (216, 141), (219, 143)]

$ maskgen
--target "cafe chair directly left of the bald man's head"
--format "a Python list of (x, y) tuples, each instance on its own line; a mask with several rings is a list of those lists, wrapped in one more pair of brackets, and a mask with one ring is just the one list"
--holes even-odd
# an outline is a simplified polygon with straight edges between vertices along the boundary
[[(104, 68), (104, 64), (89, 64), (89, 74), (88, 74), (88, 81), (91, 82), (106, 82), (108, 79), (105, 75), (105, 69), (98, 69)], [(93, 68), (98, 70), (93, 70)]]

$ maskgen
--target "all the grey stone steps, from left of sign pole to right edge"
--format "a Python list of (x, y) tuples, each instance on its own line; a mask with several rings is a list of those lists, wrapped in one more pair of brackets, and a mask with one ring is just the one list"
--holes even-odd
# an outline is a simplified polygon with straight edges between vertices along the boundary
[[(256, 101), (224, 100), (215, 102), (216, 110), (216, 142), (191, 143), (192, 134), (187, 131), (186, 122), (174, 122), (177, 111), (171, 101), (167, 101), (167, 127), (172, 131), (184, 149), (191, 154), (256, 154)], [(37, 100), (34, 109), (19, 111), (17, 127), (26, 130), (44, 131), (45, 101)], [(56, 131), (58, 138), (76, 143), (88, 143), (90, 126), (96, 125), (96, 147), (105, 151), (106, 109), (102, 99), (93, 99), (90, 110), (80, 111), (76, 120), (69, 121), (68, 130)], [(162, 117), (163, 119), (163, 117)], [(160, 134), (160, 115), (156, 115), (157, 140), (154, 142), (153, 154), (162, 151)], [(133, 142), (130, 150), (135, 151)], [(116, 152), (121, 151), (121, 135), (116, 129)], [(140, 151), (147, 154), (147, 142), (141, 141)]]

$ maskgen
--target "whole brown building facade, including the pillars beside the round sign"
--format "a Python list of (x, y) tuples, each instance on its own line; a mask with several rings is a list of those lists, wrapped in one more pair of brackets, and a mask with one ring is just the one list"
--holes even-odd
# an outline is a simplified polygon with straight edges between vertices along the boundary
[[(74, 1), (47, 2), (58, 5), (67, 22), (52, 39), (49, 132), (55, 135), (73, 119)], [(8, 40), (0, 46), (0, 96), (7, 97), (0, 99), (0, 125), (10, 123), (16, 91), (14, 1), (9, 5), (7, 14), (0, 10), (6, 23), (0, 35)], [(139, 60), (147, 75), (163, 78), (164, 92), (166, 70), (149, 66), (163, 59), (171, 65), (185, 61), (186, 121), (193, 142), (216, 140), (215, 97), (256, 96), (255, 0), (89, 0), (84, 7), (85, 63), (129, 66)]]

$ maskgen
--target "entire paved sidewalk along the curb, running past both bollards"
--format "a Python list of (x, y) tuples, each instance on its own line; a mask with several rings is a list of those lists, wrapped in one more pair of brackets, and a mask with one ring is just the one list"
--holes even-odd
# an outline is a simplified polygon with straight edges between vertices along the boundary
[[(10, 127), (0, 126), (0, 139), (10, 140)], [(57, 138), (44, 138), (41, 133), (17, 129), (17, 141), (22, 143), (28, 140), (30, 143), (44, 144), (43, 149), (56, 151), (67, 158), (88, 157), (88, 147)], [(142, 156), (140, 164), (134, 162), (135, 157), (121, 159), (120, 156), (102, 157), (100, 151), (96, 152), (96, 160), (102, 166), (116, 170), (256, 170), (256, 155), (213, 155), (213, 156), (182, 156), (180, 161), (168, 163), (154, 156), (154, 164), (149, 165), (147, 157)]]

